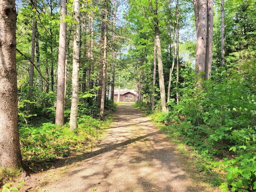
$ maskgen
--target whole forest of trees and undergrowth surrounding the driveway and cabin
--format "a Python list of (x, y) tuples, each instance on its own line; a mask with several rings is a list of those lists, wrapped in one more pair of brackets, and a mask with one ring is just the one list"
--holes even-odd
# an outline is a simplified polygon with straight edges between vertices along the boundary
[(0, 0), (0, 186), (85, 150), (129, 89), (212, 185), (256, 191), (255, 37), (254, 0)]

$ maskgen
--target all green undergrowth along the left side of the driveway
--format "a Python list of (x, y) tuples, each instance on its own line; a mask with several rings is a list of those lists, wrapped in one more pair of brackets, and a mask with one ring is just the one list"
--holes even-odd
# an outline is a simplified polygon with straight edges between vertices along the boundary
[[(54, 98), (52, 98), (54, 102)], [(56, 98), (55, 98), (56, 100)], [(36, 173), (66, 166), (83, 158), (92, 144), (97, 142), (102, 130), (108, 128), (111, 120), (110, 113), (115, 110), (112, 102), (107, 102), (107, 113), (104, 121), (99, 120), (99, 110), (92, 112), (92, 107), (88, 110), (88, 104), (80, 102), (78, 114), (78, 128), (71, 131), (68, 118), (64, 126), (54, 124), (54, 110), (45, 108), (42, 113), (30, 115), (26, 114), (26, 109), (20, 105), (20, 149), (22, 163), (27, 173)], [(67, 103), (68, 105), (68, 103)], [(92, 104), (96, 105), (96, 104)], [(69, 116), (70, 110), (65, 111), (65, 116)], [(15, 191), (19, 189), (12, 187), (20, 171), (16, 169), (4, 169), (0, 173), (0, 185), (2, 192)], [(21, 182), (19, 186), (24, 184)]]

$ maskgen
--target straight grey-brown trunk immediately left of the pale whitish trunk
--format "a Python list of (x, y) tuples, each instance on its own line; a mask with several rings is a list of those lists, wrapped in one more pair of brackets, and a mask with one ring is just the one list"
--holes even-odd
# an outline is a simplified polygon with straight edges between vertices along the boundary
[(66, 60), (66, 36), (67, 24), (64, 19), (67, 14), (66, 0), (60, 1), (60, 38), (58, 53), (58, 76), (57, 76), (57, 101), (55, 124), (64, 125), (65, 104), (65, 60)]

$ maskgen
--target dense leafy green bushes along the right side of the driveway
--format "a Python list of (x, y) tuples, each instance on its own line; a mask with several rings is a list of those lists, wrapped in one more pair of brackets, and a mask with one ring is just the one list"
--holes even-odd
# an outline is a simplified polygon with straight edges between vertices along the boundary
[[(233, 58), (234, 60), (235, 58)], [(169, 112), (156, 110), (152, 118), (176, 142), (192, 147), (212, 184), (223, 191), (256, 190), (256, 93), (254, 63), (239, 62), (213, 71), (203, 88), (182, 75), (180, 102), (168, 102)], [(145, 103), (140, 107), (151, 113)], [(223, 177), (224, 175), (224, 177)], [(217, 176), (217, 177), (216, 177)]]

